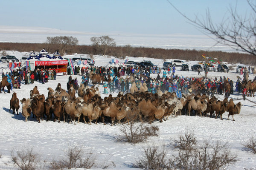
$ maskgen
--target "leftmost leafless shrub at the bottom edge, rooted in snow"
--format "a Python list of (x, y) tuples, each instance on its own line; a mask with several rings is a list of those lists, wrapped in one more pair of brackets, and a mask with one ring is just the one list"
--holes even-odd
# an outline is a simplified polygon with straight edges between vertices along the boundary
[(20, 150), (12, 148), (12, 161), (20, 170), (38, 170), (39, 157), (33, 152), (33, 148), (22, 147)]

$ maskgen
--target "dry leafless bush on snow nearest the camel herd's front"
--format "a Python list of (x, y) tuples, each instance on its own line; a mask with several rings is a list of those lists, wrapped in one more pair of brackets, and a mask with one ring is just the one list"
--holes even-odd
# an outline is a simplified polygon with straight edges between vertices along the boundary
[(120, 130), (122, 134), (117, 137), (117, 141), (136, 144), (145, 142), (149, 136), (157, 136), (159, 128), (157, 126), (146, 127), (143, 123), (131, 122), (130, 125), (122, 124)]

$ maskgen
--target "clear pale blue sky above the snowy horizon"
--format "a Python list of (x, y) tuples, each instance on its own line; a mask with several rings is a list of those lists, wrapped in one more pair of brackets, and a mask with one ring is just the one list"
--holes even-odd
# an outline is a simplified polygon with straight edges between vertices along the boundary
[[(246, 0), (169, 0), (183, 14), (221, 22), (229, 6), (239, 13)], [(0, 0), (0, 25), (36, 26), (67, 31), (133, 34), (202, 34), (166, 0)]]

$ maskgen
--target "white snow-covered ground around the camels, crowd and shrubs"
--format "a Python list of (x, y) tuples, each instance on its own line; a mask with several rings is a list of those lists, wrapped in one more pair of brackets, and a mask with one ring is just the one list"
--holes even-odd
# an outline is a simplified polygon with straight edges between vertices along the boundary
[[(20, 58), (24, 53), (17, 51), (6, 51), (8, 54), (15, 55)], [(74, 57), (80, 56), (80, 54), (74, 54)], [(133, 58), (136, 61), (151, 60), (155, 65), (162, 66), (163, 60), (151, 59), (151, 58)], [(105, 65), (111, 57), (95, 56), (96, 66)], [(124, 60), (120, 60), (121, 62)], [(189, 67), (197, 63), (195, 61), (187, 61)], [(6, 65), (6, 64), (1, 64)], [(176, 74), (183, 77), (198, 77), (198, 72), (194, 71), (180, 71), (177, 67)], [(201, 73), (202, 76), (204, 73)], [(236, 82), (236, 66), (234, 70), (229, 73), (209, 72), (208, 77), (219, 79), (220, 76), (229, 77)], [(156, 77), (157, 74), (151, 74), (152, 77)], [(247, 97), (246, 101), (242, 100), (241, 94), (231, 94), (230, 98), (234, 99), (234, 102), (241, 102), (242, 109), (239, 115), (235, 115), (234, 118), (227, 120), (228, 113), (224, 113), (223, 118), (213, 119), (199, 116), (177, 116), (171, 118), (163, 123), (155, 121), (153, 125), (159, 127), (159, 136), (151, 137), (145, 143), (139, 143), (132, 145), (129, 143), (116, 142), (115, 137), (120, 134), (120, 125), (112, 126), (111, 124), (103, 125), (86, 125), (83, 122), (80, 124), (68, 124), (58, 122), (46, 122), (41, 121), (38, 123), (35, 119), (30, 119), (28, 122), (24, 122), (24, 117), (21, 115), (21, 108), (19, 109), (19, 115), (13, 115), (9, 112), (9, 101), (12, 97), (12, 93), (16, 92), (17, 97), (22, 99), (23, 97), (29, 98), (29, 91), (38, 86), (40, 94), (47, 96), (47, 88), (56, 88), (58, 82), (61, 83), (62, 88), (67, 89), (66, 83), (69, 76), (58, 75), (56, 80), (50, 80), (44, 85), (35, 82), (33, 85), (21, 85), (21, 89), (13, 89), (11, 94), (0, 94), (0, 169), (10, 170), (14, 169), (14, 165), (10, 159), (10, 151), (13, 147), (33, 147), (36, 153), (45, 159), (47, 162), (53, 158), (61, 158), (64, 156), (63, 150), (67, 150), (68, 146), (79, 146), (86, 152), (92, 152), (97, 157), (97, 161), (102, 163), (105, 159), (114, 161), (116, 167), (110, 167), (109, 169), (135, 169), (131, 167), (132, 163), (138, 160), (142, 153), (142, 147), (147, 146), (149, 143), (169, 144), (171, 140), (177, 139), (177, 136), (184, 134), (186, 131), (194, 132), (196, 139), (199, 142), (204, 140), (220, 140), (221, 142), (228, 142), (231, 151), (238, 155), (239, 161), (232, 166), (228, 167), (230, 170), (242, 170), (244, 168), (256, 167), (256, 155), (247, 152), (242, 145), (251, 136), (256, 137), (256, 99), (254, 97)], [(79, 84), (81, 83), (81, 76), (72, 75), (73, 78), (77, 77)], [(250, 74), (249, 78), (253, 78)], [(102, 85), (99, 87), (100, 92), (103, 92)], [(115, 91), (114, 96), (118, 94)], [(77, 94), (76, 94), (77, 96)], [(101, 94), (104, 98), (106, 95)], [(218, 99), (224, 99), (224, 96), (216, 95)], [(21, 105), (20, 105), (21, 106)], [(175, 153), (172, 149), (169, 149), (170, 154)], [(99, 167), (92, 169), (100, 169)]]

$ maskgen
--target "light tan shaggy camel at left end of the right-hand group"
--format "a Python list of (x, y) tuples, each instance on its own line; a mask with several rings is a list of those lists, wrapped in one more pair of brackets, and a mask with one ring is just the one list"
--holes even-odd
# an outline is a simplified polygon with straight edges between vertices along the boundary
[(200, 99), (195, 101), (195, 99), (191, 99), (188, 104), (188, 113), (190, 116), (190, 111), (195, 110), (198, 111), (200, 116), (202, 117), (202, 112), (204, 112), (207, 109), (207, 100), (205, 99), (203, 104), (201, 103)]

